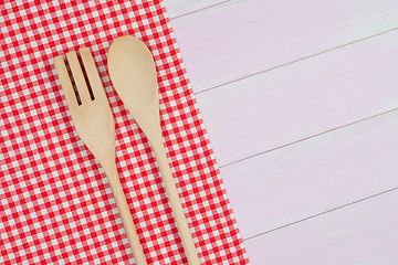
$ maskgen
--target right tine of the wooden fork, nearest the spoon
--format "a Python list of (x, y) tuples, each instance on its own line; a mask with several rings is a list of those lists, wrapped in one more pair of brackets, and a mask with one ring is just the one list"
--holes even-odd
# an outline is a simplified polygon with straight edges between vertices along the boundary
[(102, 84), (97, 67), (95, 66), (94, 59), (88, 47), (81, 47), (78, 50), (84, 68), (86, 71), (91, 88), (95, 99), (106, 98), (105, 89)]

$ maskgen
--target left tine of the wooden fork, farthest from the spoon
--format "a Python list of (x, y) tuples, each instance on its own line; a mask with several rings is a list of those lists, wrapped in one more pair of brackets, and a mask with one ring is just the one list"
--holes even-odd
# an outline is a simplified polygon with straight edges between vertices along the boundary
[(70, 108), (78, 107), (77, 97), (73, 89), (72, 81), (67, 73), (65, 61), (63, 60), (62, 55), (54, 57), (54, 65), (61, 82), (62, 89), (65, 94), (67, 106)]

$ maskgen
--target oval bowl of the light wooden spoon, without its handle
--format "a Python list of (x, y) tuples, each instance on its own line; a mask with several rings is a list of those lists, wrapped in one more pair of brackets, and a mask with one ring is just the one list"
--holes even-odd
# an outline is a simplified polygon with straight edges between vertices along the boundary
[[(157, 74), (150, 51), (136, 38), (121, 36), (109, 47), (108, 71), (117, 94), (147, 134), (148, 120), (159, 116)], [(154, 121), (158, 123), (158, 118)]]

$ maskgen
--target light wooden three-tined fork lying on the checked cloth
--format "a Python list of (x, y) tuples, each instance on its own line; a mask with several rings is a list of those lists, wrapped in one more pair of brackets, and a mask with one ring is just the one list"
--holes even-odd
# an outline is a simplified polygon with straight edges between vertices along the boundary
[(56, 73), (77, 135), (105, 170), (134, 258), (138, 265), (146, 265), (116, 169), (115, 126), (111, 107), (90, 49), (82, 47), (78, 52), (85, 71), (80, 64), (76, 52), (72, 51), (66, 53), (72, 77), (61, 55), (54, 59)]

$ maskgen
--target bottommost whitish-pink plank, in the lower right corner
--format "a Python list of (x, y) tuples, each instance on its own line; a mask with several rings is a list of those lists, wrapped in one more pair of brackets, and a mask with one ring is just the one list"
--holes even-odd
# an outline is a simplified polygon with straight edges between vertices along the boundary
[(252, 264), (397, 264), (398, 192), (245, 242)]

